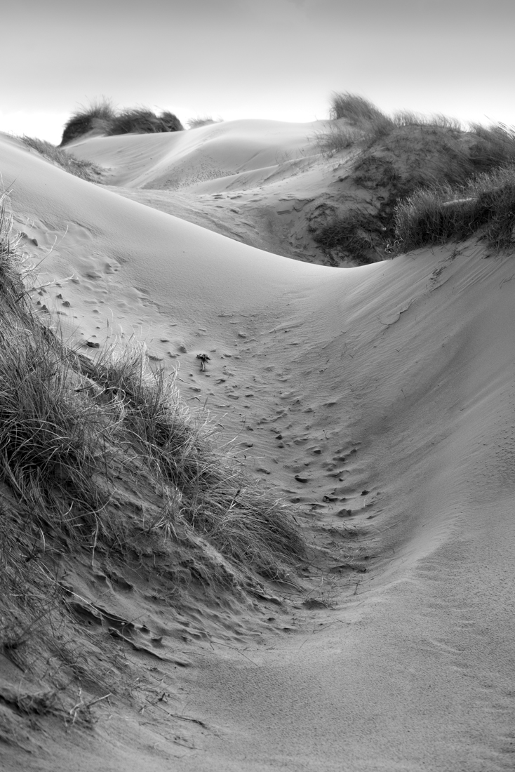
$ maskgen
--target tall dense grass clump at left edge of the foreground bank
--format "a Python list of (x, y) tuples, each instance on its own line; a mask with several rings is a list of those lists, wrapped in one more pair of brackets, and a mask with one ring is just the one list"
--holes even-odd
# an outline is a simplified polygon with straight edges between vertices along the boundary
[(0, 320), (2, 479), (46, 525), (90, 533), (105, 503), (93, 483), (104, 417), (71, 388), (71, 363), (45, 327)]

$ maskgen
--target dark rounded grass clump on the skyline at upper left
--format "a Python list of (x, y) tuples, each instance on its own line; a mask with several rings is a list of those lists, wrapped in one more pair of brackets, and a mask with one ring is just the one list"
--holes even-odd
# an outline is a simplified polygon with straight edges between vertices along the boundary
[(147, 107), (133, 107), (115, 110), (110, 100), (93, 102), (90, 107), (81, 107), (66, 121), (61, 147), (69, 144), (90, 131), (112, 136), (114, 134), (156, 134), (168, 131), (182, 131), (181, 121), (174, 113), (164, 110), (157, 115)]

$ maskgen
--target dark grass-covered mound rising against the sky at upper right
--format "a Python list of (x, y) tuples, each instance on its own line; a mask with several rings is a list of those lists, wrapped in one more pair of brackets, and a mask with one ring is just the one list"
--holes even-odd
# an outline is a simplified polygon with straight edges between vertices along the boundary
[(330, 157), (354, 149), (347, 184), (357, 193), (351, 208), (321, 205), (310, 217), (313, 240), (332, 264), (361, 265), (478, 231), (496, 248), (507, 245), (513, 172), (500, 170), (515, 163), (513, 129), (465, 129), (445, 116), (407, 112), (389, 117), (349, 93), (333, 95), (330, 115), (333, 123), (315, 140)]

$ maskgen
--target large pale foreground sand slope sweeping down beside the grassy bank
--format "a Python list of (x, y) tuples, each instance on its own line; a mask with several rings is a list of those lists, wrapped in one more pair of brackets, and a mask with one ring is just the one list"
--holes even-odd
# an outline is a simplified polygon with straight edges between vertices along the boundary
[[(164, 145), (183, 141), (110, 138), (110, 154), (111, 140), (120, 154), (159, 148), (163, 175)], [(133, 180), (157, 179), (136, 151), (134, 164)], [(183, 720), (184, 741), (166, 711), (127, 709), (95, 743), (50, 737), (13, 768), (513, 769), (513, 256), (471, 243), (311, 266), (76, 180), (15, 141), (2, 138), (0, 169), (28, 251), (56, 241), (42, 278), (58, 285), (40, 302), (84, 343), (136, 331), (180, 363), (185, 399), (207, 398), (256, 475), (305, 504), (342, 555), (330, 608), (293, 608), (274, 623), (290, 631), (244, 651), (199, 643), (185, 673), (160, 665), (182, 690), (170, 712), (202, 722)], [(344, 567), (351, 545), (360, 571)], [(286, 617), (270, 604), (270, 619)]]

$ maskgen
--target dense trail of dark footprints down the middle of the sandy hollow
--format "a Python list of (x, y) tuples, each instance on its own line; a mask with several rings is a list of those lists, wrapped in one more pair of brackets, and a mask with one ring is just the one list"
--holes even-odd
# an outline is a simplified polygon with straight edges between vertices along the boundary
[[(248, 374), (249, 367), (244, 367), (247, 358), (241, 348), (237, 354), (212, 350), (206, 371), (198, 367), (188, 371), (187, 377), (181, 375), (182, 388), (186, 386), (190, 400), (213, 398), (217, 411), (227, 410), (239, 417), (238, 449), (248, 463), (254, 462), (256, 473), (268, 478), (266, 484), (283, 489), (292, 503), (337, 518), (370, 510), (368, 519), (372, 519), (379, 492), (364, 482), (367, 469), (360, 460), (360, 443), (338, 445), (345, 430), (343, 426), (335, 428), (341, 411), (337, 399), (319, 406), (321, 415), (315, 416), (314, 409), (304, 408), (295, 389), (286, 385), (290, 368), (267, 366), (263, 377)], [(276, 388), (271, 388), (270, 380), (276, 381)], [(263, 415), (266, 412), (269, 417)], [(307, 422), (303, 422), (304, 416)], [(326, 430), (324, 426), (333, 428)]]

